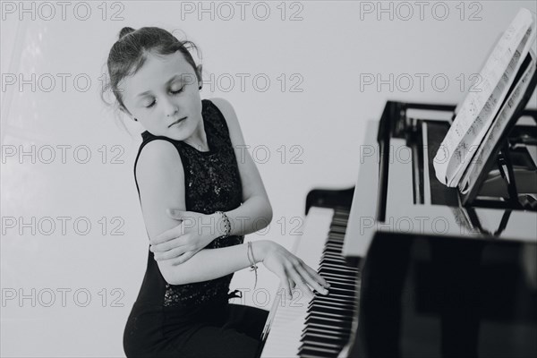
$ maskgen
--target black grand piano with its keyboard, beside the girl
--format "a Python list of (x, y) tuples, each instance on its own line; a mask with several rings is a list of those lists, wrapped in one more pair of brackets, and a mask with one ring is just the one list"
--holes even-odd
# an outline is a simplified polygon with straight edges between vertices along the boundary
[(260, 357), (537, 354), (537, 111), (519, 110), (472, 197), (432, 159), (455, 106), (388, 101), (352, 188), (306, 198), (294, 253), (327, 296), (277, 296)]

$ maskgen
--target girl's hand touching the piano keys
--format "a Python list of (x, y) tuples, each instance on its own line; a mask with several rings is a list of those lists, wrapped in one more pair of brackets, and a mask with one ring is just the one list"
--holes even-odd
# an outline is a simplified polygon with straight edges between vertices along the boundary
[(274, 242), (268, 243), (270, 244), (263, 257), (263, 265), (274, 272), (277, 277), (280, 277), (281, 284), (286, 290), (287, 299), (293, 297), (291, 290), (294, 286), (298, 286), (298, 289), (302, 290), (310, 298), (315, 295), (309, 286), (320, 294), (328, 294), (328, 290), (325, 287), (330, 285), (313, 268), (287, 251), (282, 245)]

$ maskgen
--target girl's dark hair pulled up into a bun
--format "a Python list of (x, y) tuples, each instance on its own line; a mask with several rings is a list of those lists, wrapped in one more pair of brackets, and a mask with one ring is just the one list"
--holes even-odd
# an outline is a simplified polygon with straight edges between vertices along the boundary
[[(196, 55), (200, 57), (200, 50), (192, 41), (179, 41), (166, 30), (156, 27), (143, 27), (138, 30), (124, 27), (119, 31), (119, 38), (108, 54), (107, 81), (101, 90), (101, 99), (116, 110), (126, 111), (121, 90), (117, 86), (125, 77), (138, 72), (149, 54), (171, 55), (176, 51), (181, 52), (186, 62), (192, 65), (198, 81), (201, 81), (201, 65), (196, 66), (189, 52), (190, 48), (194, 49)], [(109, 90), (114, 93), (115, 103), (110, 103), (105, 99)]]

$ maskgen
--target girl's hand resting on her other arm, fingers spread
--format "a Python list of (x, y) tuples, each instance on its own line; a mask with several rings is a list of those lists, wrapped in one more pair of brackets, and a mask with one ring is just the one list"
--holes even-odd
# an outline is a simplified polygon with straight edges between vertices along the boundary
[(182, 264), (219, 236), (214, 214), (170, 209), (166, 213), (181, 224), (150, 240), (149, 250), (155, 253), (155, 260), (174, 260), (173, 265)]

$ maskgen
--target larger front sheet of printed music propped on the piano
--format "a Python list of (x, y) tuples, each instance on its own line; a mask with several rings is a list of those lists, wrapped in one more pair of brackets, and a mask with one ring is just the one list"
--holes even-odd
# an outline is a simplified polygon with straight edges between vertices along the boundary
[[(480, 73), (482, 90), (470, 92), (449, 128), (434, 159), (437, 178), (448, 186), (456, 186), (453, 176), (465, 166), (472, 146), (479, 141), (506, 97), (520, 64), (529, 51), (535, 26), (533, 15), (521, 9), (499, 39)], [(481, 137), (481, 138), (480, 138)]]

